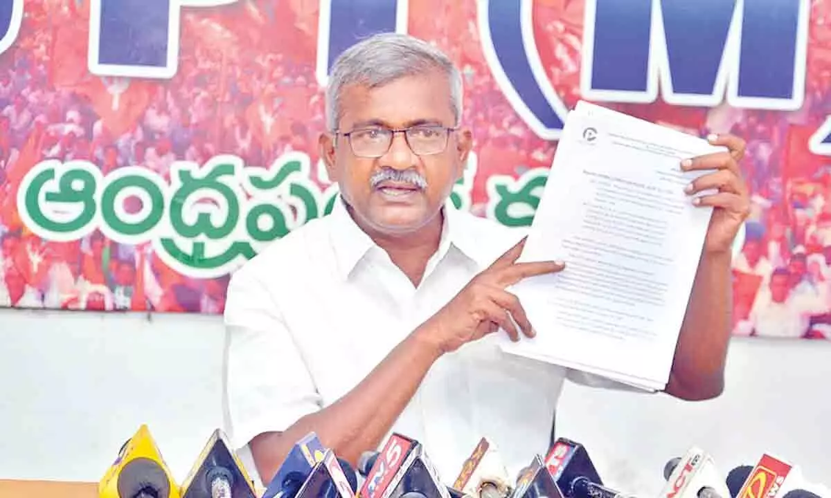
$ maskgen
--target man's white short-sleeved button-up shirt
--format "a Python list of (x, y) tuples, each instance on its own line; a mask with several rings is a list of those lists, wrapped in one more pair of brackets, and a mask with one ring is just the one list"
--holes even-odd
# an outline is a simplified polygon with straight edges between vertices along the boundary
[[(253, 437), (283, 431), (347, 394), (523, 235), (453, 207), (445, 212), (439, 250), (417, 288), (340, 202), (234, 273), (225, 306), (226, 431), (248, 469), (243, 446)], [(483, 436), (512, 479), (548, 450), (566, 369), (504, 354), (494, 339), (435, 362), (392, 429), (425, 445), (445, 483)]]

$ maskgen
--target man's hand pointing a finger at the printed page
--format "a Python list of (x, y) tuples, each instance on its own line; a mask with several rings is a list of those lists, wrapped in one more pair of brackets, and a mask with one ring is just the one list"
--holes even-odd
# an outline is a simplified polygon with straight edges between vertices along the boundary
[(505, 288), (529, 276), (556, 273), (563, 270), (564, 265), (558, 261), (518, 263), (516, 261), (524, 245), (525, 238), (475, 276), (459, 294), (430, 317), (425, 326), (419, 328), (440, 354), (455, 351), (463, 344), (481, 339), (499, 328), (504, 329), (514, 341), (519, 340), (520, 330), (526, 336), (534, 337), (534, 329), (519, 298), (505, 291)]

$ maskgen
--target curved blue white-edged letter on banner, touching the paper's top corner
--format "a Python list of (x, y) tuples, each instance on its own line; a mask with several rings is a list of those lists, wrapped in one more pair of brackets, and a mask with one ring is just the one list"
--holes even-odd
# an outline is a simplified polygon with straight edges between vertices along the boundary
[(534, 43), (533, 1), (479, 2), (479, 37), (494, 80), (540, 138), (558, 139), (567, 114)]

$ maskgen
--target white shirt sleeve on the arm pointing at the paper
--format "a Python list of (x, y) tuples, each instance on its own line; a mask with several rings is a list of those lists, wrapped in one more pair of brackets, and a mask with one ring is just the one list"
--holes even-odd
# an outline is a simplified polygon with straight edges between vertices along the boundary
[(232, 276), (224, 320), (226, 423), (235, 447), (320, 410), (312, 375), (256, 266)]

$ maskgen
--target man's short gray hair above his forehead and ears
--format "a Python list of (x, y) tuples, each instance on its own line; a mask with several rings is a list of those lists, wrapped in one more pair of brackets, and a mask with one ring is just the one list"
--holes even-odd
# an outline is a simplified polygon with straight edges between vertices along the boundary
[(326, 89), (326, 123), (337, 129), (341, 119), (341, 92), (353, 84), (370, 88), (386, 85), (404, 76), (442, 71), (450, 83), (450, 108), (455, 125), (462, 115), (462, 77), (450, 58), (430, 43), (410, 35), (381, 33), (357, 42), (337, 56)]

